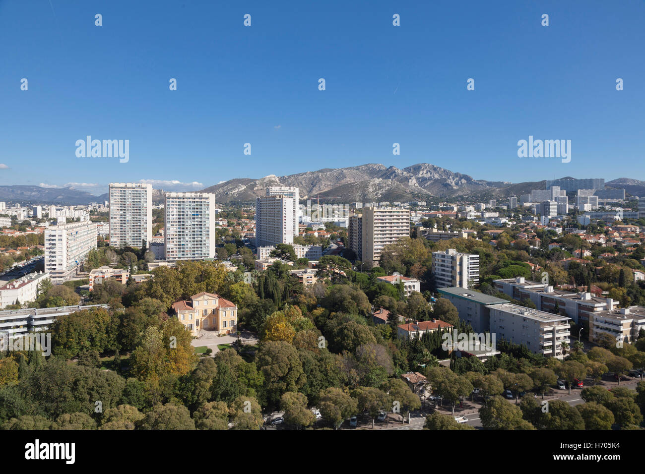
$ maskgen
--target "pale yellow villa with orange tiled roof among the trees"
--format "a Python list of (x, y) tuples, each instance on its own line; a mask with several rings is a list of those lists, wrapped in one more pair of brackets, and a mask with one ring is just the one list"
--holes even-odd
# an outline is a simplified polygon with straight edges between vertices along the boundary
[(192, 295), (190, 301), (177, 301), (172, 311), (193, 333), (201, 329), (216, 331), (219, 335), (237, 331), (237, 306), (214, 293), (202, 291)]

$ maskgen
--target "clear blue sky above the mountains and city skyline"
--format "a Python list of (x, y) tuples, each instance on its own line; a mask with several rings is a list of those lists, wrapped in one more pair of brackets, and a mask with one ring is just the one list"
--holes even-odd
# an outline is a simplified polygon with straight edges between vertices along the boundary
[[(364, 163), (645, 179), (644, 1), (401, 3), (0, 0), (0, 184), (199, 183), (154, 181), (183, 190)], [(77, 158), (86, 135), (130, 140), (130, 161)], [(571, 162), (518, 158), (529, 135), (570, 139)]]

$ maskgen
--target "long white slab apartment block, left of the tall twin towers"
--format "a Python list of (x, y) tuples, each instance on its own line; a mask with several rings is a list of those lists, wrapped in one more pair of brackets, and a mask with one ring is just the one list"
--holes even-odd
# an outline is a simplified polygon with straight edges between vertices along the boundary
[(94, 222), (70, 222), (45, 229), (45, 272), (53, 283), (72, 277), (85, 256), (96, 248)]

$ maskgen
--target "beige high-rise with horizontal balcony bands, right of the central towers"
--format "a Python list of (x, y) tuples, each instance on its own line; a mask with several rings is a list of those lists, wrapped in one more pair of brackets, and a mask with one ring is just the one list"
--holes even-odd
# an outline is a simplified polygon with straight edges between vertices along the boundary
[(410, 210), (402, 208), (363, 208), (362, 262), (376, 266), (381, 260), (383, 247), (410, 237)]

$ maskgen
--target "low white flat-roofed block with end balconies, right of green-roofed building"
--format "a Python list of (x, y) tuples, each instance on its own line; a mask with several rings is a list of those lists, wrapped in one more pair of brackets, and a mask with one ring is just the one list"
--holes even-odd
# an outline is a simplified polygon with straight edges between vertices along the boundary
[(512, 303), (493, 304), (489, 308), (490, 332), (497, 342), (503, 339), (526, 346), (536, 354), (564, 359), (562, 342), (570, 344), (570, 318)]

